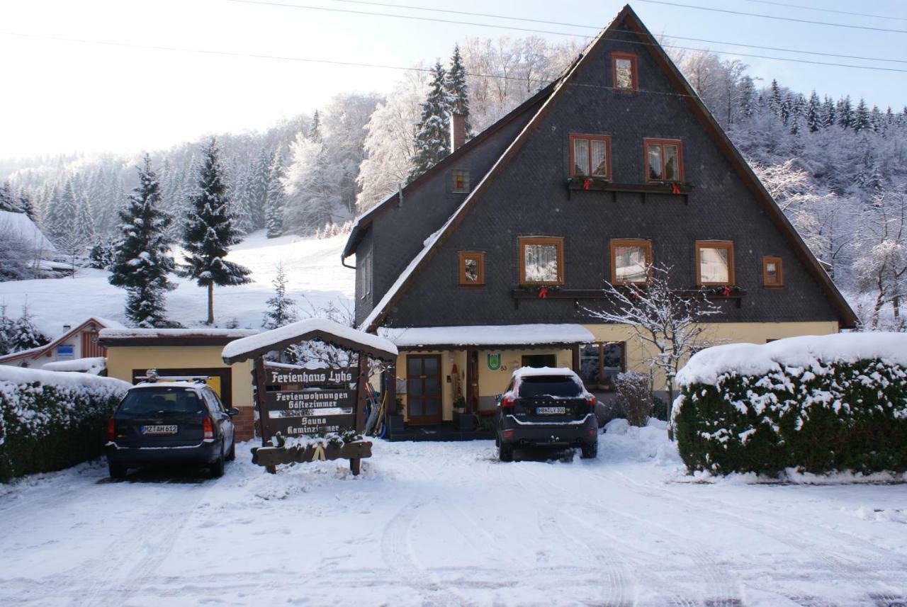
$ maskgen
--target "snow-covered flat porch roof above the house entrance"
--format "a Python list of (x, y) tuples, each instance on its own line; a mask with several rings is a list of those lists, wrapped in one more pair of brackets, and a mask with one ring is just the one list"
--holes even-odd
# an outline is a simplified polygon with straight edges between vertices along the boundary
[(400, 348), (427, 346), (518, 346), (594, 342), (581, 324), (499, 324), (452, 327), (379, 327)]

